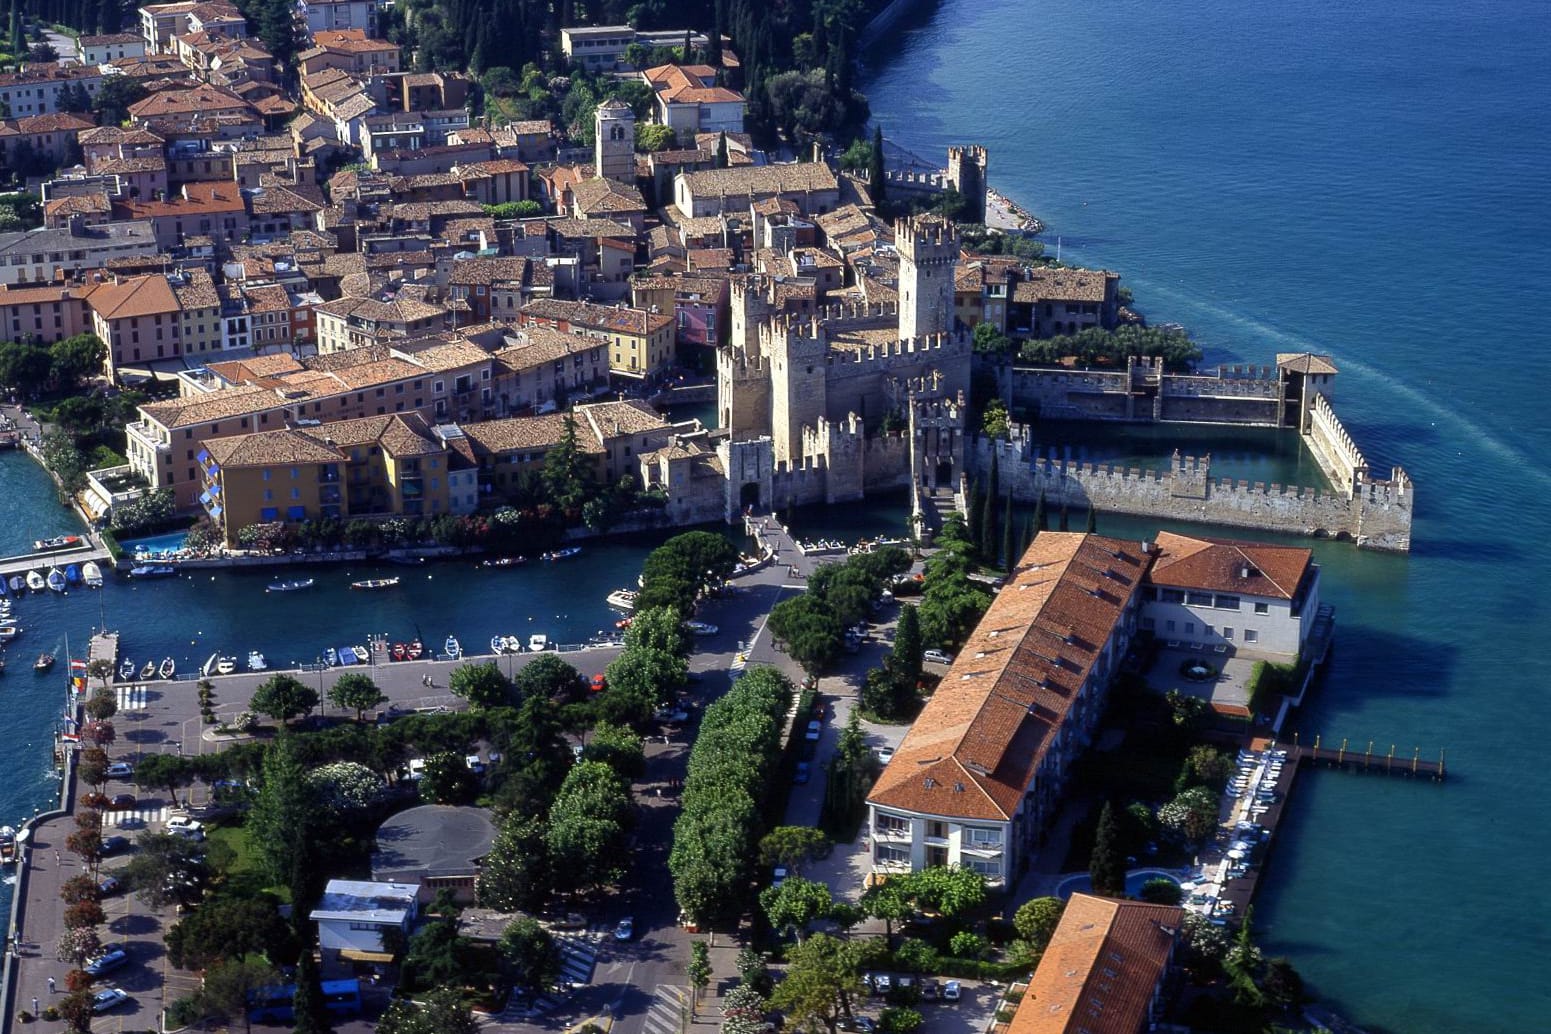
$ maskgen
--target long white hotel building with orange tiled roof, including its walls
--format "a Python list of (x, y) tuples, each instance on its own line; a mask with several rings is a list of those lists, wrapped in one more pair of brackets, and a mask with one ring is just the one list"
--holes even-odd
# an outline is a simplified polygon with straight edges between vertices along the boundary
[(1041, 532), (867, 795), (873, 874), (1016, 879), (1137, 623), (1138, 543)]

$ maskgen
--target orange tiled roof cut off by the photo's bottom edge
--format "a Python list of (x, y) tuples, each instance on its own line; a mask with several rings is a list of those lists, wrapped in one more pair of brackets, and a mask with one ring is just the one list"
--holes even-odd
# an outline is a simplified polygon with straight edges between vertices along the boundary
[(1072, 894), (1007, 1034), (1137, 1034), (1185, 912)]

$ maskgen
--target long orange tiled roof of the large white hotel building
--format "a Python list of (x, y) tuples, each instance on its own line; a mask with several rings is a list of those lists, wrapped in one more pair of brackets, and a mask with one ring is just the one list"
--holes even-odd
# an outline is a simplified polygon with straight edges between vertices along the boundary
[(1008, 822), (1142, 580), (1134, 543), (1041, 532), (867, 800)]

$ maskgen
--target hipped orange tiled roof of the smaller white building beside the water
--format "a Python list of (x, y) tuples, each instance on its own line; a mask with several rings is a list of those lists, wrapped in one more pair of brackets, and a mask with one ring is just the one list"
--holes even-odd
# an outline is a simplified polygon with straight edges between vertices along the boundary
[(1314, 563), (1314, 550), (1159, 532), (1151, 584), (1290, 600)]

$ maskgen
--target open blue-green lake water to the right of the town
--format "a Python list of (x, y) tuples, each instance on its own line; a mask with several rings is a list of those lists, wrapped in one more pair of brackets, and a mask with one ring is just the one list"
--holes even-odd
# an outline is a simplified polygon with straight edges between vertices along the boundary
[(1315, 544), (1339, 631), (1295, 726), (1455, 778), (1300, 781), (1255, 913), (1373, 1029), (1551, 1025), (1522, 896), (1551, 853), (1548, 31), (1539, 0), (941, 0), (862, 82), (920, 155), (988, 144), (1052, 248), (1210, 361), (1334, 353), (1348, 429), (1416, 479), (1408, 558)]

